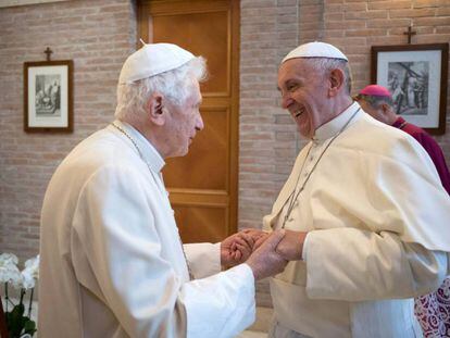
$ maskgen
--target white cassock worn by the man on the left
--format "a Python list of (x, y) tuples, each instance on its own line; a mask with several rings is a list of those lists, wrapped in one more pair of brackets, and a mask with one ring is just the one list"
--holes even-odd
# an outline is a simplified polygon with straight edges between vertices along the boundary
[(221, 272), (220, 245), (187, 245), (189, 281), (164, 161), (115, 124), (148, 166), (109, 126), (57, 170), (41, 215), (39, 337), (234, 337), (254, 321), (251, 268)]

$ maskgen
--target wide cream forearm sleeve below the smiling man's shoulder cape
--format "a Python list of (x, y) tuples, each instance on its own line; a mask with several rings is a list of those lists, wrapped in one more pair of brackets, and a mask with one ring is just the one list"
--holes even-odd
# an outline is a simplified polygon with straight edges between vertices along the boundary
[(307, 292), (314, 299), (413, 298), (437, 289), (448, 271), (445, 252), (355, 228), (309, 233), (307, 256)]

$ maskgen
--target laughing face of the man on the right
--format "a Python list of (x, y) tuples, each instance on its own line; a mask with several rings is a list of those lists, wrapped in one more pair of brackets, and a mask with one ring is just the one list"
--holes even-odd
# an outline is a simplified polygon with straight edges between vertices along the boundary
[(305, 59), (290, 59), (278, 70), (282, 107), (297, 123), (299, 133), (312, 138), (315, 129), (326, 122), (327, 82)]

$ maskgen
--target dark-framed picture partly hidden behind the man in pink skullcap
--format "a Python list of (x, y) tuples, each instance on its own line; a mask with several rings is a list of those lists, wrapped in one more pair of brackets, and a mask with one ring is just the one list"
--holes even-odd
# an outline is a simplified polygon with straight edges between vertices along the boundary
[(449, 45), (372, 47), (372, 83), (388, 88), (397, 114), (430, 134), (446, 132)]

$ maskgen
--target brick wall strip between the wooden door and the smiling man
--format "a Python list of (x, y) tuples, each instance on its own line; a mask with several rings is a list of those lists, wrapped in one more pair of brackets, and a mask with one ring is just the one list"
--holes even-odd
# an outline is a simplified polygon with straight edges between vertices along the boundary
[[(261, 227), (297, 153), (296, 126), (279, 107), (277, 68), (298, 45), (297, 0), (242, 0), (238, 226)], [(271, 306), (268, 284), (257, 285), (258, 303)]]

